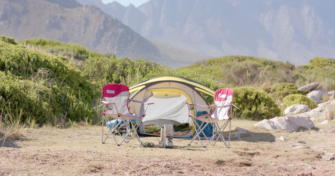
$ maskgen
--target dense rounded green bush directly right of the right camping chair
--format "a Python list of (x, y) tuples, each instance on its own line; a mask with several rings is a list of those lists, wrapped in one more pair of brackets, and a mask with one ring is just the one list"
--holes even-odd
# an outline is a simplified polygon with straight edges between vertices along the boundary
[(250, 120), (270, 119), (281, 115), (281, 111), (265, 91), (251, 87), (233, 88), (235, 104), (241, 111), (233, 108), (234, 114)]

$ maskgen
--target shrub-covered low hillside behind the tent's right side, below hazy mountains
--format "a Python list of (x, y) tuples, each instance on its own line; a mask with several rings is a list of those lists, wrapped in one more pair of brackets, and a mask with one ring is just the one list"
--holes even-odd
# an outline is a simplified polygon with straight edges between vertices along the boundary
[[(335, 89), (335, 59), (316, 57), (309, 65), (295, 66), (252, 56), (223, 56), (198, 62), (185, 68), (213, 76), (223, 84), (266, 87), (290, 82), (303, 86), (319, 82), (328, 90)], [(182, 68), (183, 69), (183, 68)]]

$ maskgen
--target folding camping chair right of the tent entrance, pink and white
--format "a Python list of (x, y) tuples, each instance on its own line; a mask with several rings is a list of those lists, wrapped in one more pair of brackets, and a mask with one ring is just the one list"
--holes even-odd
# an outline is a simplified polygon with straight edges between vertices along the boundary
[[(188, 102), (184, 102), (185, 104), (188, 105), (189, 108), (189, 117), (192, 118), (192, 124), (195, 128), (195, 135), (193, 136), (191, 142), (188, 145), (191, 145), (191, 143), (193, 142), (194, 139), (199, 138), (200, 144), (202, 147), (206, 147), (209, 143), (211, 145), (215, 145), (215, 143), (218, 141), (218, 139), (221, 139), (223, 141), (223, 143), (225, 144), (225, 146), (227, 148), (229, 148), (229, 144), (230, 144), (230, 124), (231, 124), (231, 113), (232, 113), (232, 100), (233, 100), (233, 90), (231, 89), (218, 89), (215, 91), (215, 100), (214, 103), (210, 106), (203, 106), (203, 105), (197, 105), (197, 104), (193, 104), (193, 103), (188, 103)], [(191, 114), (191, 110), (190, 110), (190, 105), (193, 106), (202, 106), (202, 107), (209, 107), (209, 111), (208, 114), (205, 115), (200, 115), (200, 116), (193, 116)], [(213, 113), (210, 114), (210, 110), (214, 108)], [(228, 115), (230, 109), (230, 116)], [(196, 123), (195, 119), (199, 120), (201, 123), (200, 125), (198, 123)], [(225, 123), (220, 126), (218, 122), (220, 121), (225, 121)], [(229, 123), (229, 141), (228, 141), (228, 145), (226, 143), (226, 141), (224, 140), (224, 137), (222, 135), (223, 130), (226, 128), (226, 126)], [(208, 137), (205, 135), (205, 133), (203, 132), (203, 130), (207, 127), (207, 125), (211, 125), (213, 127), (213, 133), (212, 136), (210, 137), (210, 139), (208, 139)], [(208, 142), (203, 145), (202, 141), (201, 141), (201, 137), (199, 136), (200, 134), (203, 134), (203, 138), (205, 138)], [(215, 140), (216, 138), (216, 140)], [(214, 141), (215, 140), (215, 141)]]

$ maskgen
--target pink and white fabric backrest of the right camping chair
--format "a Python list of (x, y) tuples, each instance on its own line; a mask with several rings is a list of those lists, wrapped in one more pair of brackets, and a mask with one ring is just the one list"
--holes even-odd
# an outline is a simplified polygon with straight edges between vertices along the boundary
[[(215, 91), (215, 99), (214, 103), (216, 106), (225, 106), (225, 105), (231, 105), (233, 100), (234, 92), (232, 89), (217, 89)], [(211, 114), (211, 117), (216, 120), (226, 120), (229, 119), (229, 108), (215, 108), (213, 113)]]

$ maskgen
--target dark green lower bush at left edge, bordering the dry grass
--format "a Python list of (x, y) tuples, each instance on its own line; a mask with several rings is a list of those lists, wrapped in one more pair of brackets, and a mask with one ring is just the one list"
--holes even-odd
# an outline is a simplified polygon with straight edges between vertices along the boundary
[(19, 114), (24, 112), (21, 120), (35, 119), (43, 124), (52, 117), (64, 120), (80, 121), (92, 119), (91, 107), (65, 92), (58, 86), (48, 86), (45, 80), (20, 80), (10, 73), (0, 71), (0, 109)]

